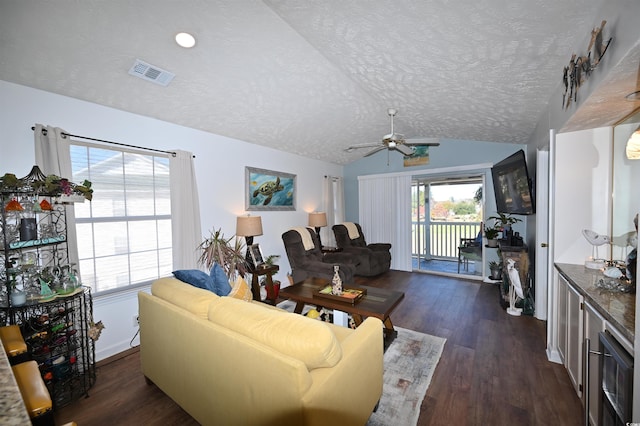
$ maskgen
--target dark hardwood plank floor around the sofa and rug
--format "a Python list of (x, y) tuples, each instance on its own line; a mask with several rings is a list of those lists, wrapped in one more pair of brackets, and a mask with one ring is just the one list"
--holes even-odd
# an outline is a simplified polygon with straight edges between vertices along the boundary
[[(545, 322), (507, 315), (495, 285), (398, 271), (357, 282), (404, 291), (394, 325), (447, 339), (418, 425), (583, 423), (564, 367), (546, 359)], [(97, 375), (90, 396), (60, 409), (57, 424), (197, 424), (145, 383), (136, 350), (98, 363)]]

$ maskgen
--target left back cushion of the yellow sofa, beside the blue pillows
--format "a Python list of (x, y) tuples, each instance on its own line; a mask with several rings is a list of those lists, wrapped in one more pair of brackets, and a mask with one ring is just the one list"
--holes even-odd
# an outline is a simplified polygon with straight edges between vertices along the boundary
[(151, 294), (205, 319), (209, 305), (220, 299), (220, 296), (209, 290), (187, 285), (173, 277), (154, 281)]

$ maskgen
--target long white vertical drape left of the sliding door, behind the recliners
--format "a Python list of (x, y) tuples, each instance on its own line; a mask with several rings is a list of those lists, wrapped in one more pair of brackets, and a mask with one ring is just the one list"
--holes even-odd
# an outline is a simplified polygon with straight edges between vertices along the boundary
[(359, 223), (367, 243), (391, 243), (391, 269), (411, 271), (411, 176), (360, 176)]

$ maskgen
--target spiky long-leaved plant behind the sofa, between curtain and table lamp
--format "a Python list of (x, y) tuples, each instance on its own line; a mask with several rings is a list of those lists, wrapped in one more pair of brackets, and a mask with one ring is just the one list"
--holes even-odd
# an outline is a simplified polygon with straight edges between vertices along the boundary
[[(232, 243), (234, 239), (235, 242)], [(210, 236), (198, 248), (202, 250), (198, 263), (207, 269), (211, 269), (214, 263), (219, 264), (229, 281), (235, 280), (236, 273), (244, 277), (248, 270), (242, 241), (235, 236), (226, 238), (221, 229), (211, 231)]]

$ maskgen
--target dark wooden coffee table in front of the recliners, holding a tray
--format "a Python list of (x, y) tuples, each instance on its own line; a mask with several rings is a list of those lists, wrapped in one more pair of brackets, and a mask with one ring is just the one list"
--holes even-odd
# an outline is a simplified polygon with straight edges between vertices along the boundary
[(314, 305), (351, 314), (356, 326), (362, 324), (364, 317), (378, 318), (384, 324), (385, 348), (387, 348), (398, 335), (389, 315), (404, 299), (404, 293), (375, 287), (345, 285), (348, 288), (366, 289), (367, 294), (355, 304), (314, 296), (314, 293), (329, 283), (330, 281), (324, 278), (307, 278), (300, 283), (281, 289), (280, 297), (296, 302), (294, 312), (297, 314), (302, 313), (304, 305)]

